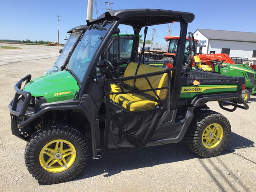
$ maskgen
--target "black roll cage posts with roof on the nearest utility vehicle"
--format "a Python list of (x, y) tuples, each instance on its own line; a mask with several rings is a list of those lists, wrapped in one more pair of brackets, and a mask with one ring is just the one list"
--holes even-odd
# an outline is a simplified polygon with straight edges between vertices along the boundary
[[(176, 63), (180, 65), (174, 65), (174, 70), (176, 74), (181, 74), (182, 72), (182, 64), (183, 64), (183, 55), (185, 49), (185, 42), (187, 36), (187, 27), (188, 23), (191, 23), (194, 20), (195, 16), (193, 13), (188, 12), (177, 12), (177, 11), (169, 11), (169, 10), (160, 10), (160, 9), (128, 9), (128, 10), (116, 10), (110, 11), (102, 14), (98, 17), (98, 19), (87, 20), (87, 25), (91, 26), (93, 24), (100, 24), (108, 21), (113, 21), (111, 28), (106, 33), (106, 36), (103, 38), (100, 43), (99, 50), (93, 56), (88, 70), (84, 75), (84, 79), (81, 84), (81, 90), (79, 93), (79, 97), (81, 97), (87, 86), (88, 86), (88, 77), (93, 76), (93, 71), (95, 66), (98, 63), (98, 58), (100, 58), (101, 52), (104, 47), (108, 44), (108, 40), (111, 38), (112, 34), (114, 34), (116, 28), (118, 28), (119, 24), (130, 25), (134, 29), (134, 45), (132, 50), (131, 59), (136, 61), (137, 57), (137, 48), (139, 46), (139, 32), (141, 28), (152, 26), (156, 24), (168, 24), (174, 22), (180, 22), (180, 41), (178, 46), (180, 49), (177, 52)], [(180, 57), (179, 57), (180, 56)], [(174, 87), (172, 90), (179, 90), (180, 86), (180, 75), (174, 76), (173, 79)], [(179, 95), (175, 94), (172, 91), (172, 104), (171, 108), (176, 107), (176, 101), (179, 99)]]

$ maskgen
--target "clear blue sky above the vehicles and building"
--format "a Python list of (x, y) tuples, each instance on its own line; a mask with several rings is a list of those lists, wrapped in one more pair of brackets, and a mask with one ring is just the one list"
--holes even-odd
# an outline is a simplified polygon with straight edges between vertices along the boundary
[[(157, 8), (192, 12), (195, 20), (188, 24), (188, 31), (216, 29), (256, 32), (256, 0), (106, 0), (110, 8)], [(58, 17), (60, 17), (60, 43), (67, 31), (86, 24), (87, 0), (0, 0), (0, 39), (43, 40), (56, 42)], [(96, 10), (97, 8), (97, 10)], [(94, 0), (93, 18), (106, 12), (105, 0)], [(156, 31), (160, 40), (168, 35), (168, 25)], [(171, 33), (177, 36), (175, 30)], [(164, 40), (163, 40), (164, 42)], [(160, 42), (161, 43), (161, 42)]]

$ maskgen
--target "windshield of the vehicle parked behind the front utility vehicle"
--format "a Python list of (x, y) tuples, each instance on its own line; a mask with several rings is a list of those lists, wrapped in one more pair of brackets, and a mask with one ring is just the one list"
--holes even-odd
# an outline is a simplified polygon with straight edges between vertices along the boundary
[(55, 64), (48, 71), (44, 72), (44, 75), (48, 75), (48, 74), (52, 74), (54, 72), (60, 71), (60, 68), (64, 64), (64, 61), (66, 60), (66, 58), (68, 57), (68, 53), (73, 47), (79, 33), (80, 32), (73, 32), (72, 34), (69, 35), (68, 40), (65, 46), (63, 47), (63, 49), (61, 50), (61, 53), (58, 59), (56, 60)]

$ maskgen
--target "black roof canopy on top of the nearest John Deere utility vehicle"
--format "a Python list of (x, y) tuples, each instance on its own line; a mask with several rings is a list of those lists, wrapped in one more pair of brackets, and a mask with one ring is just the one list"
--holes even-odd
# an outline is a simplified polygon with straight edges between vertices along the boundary
[(140, 27), (155, 24), (167, 24), (178, 21), (191, 23), (195, 15), (189, 12), (178, 12), (163, 9), (126, 9), (105, 12), (97, 19), (87, 20), (87, 25), (102, 22), (106, 19), (124, 19), (122, 24), (137, 25)]

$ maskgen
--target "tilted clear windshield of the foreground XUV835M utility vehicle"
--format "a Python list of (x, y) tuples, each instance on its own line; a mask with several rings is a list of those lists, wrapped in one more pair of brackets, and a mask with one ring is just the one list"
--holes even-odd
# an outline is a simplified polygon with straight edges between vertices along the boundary
[(75, 73), (80, 81), (83, 80), (88, 65), (111, 24), (90, 26), (77, 44), (68, 61), (67, 69)]

